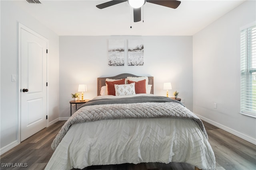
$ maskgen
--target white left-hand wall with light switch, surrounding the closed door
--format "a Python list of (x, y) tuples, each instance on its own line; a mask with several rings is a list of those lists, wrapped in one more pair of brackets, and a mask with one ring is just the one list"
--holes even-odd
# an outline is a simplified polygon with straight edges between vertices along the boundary
[[(15, 1), (1, 1), (1, 152), (16, 145), (18, 135), (18, 22), (49, 40), (48, 44), (48, 117), (49, 122), (59, 117), (59, 37), (15, 6)], [(11, 75), (17, 81), (12, 82)]]

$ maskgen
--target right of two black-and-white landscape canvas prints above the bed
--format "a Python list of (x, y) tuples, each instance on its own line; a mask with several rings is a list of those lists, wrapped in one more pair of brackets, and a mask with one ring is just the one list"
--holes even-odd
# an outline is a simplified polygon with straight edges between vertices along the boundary
[(144, 64), (144, 45), (142, 39), (128, 40), (128, 66)]

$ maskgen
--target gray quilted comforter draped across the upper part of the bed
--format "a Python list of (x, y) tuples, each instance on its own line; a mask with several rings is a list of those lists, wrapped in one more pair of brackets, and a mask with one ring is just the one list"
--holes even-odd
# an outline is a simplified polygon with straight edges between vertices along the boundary
[(198, 123), (208, 139), (202, 121), (177, 100), (163, 96), (136, 96), (131, 98), (90, 100), (81, 106), (63, 125), (52, 142), (55, 150), (71, 125), (104, 119), (128, 118), (186, 118)]

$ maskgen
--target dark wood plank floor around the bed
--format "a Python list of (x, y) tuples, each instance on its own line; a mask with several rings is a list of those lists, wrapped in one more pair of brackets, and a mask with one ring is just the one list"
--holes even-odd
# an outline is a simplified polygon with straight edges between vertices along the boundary
[[(53, 153), (50, 145), (64, 123), (65, 121), (59, 121), (2, 154), (0, 169), (43, 170)], [(204, 125), (216, 157), (216, 170), (256, 170), (256, 145), (209, 123), (204, 122)], [(4, 163), (12, 163), (12, 166), (19, 163), (24, 167), (4, 167)], [(175, 162), (169, 164), (140, 163), (89, 166), (84, 170), (194, 170), (194, 166)]]

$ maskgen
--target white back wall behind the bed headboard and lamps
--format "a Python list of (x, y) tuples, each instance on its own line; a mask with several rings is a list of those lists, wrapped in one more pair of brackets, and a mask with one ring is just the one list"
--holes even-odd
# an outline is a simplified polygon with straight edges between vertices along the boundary
[[(108, 39), (142, 39), (144, 65), (108, 66)], [(127, 47), (127, 41), (125, 43)], [(60, 117), (70, 116), (70, 94), (87, 84), (84, 98), (97, 95), (97, 77), (131, 73), (154, 76), (154, 94), (165, 96), (164, 82), (172, 83), (192, 110), (192, 36), (60, 36)]]

